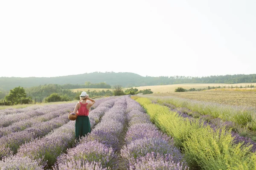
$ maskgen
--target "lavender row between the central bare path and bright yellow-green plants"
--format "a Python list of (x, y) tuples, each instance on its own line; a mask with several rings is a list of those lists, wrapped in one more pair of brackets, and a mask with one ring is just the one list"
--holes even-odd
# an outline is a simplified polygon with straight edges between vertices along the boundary
[(182, 162), (183, 155), (174, 146), (173, 140), (150, 122), (150, 117), (144, 113), (139, 103), (132, 99), (127, 101), (130, 127), (121, 156), (128, 161), (130, 170), (189, 169), (185, 166), (186, 162)]

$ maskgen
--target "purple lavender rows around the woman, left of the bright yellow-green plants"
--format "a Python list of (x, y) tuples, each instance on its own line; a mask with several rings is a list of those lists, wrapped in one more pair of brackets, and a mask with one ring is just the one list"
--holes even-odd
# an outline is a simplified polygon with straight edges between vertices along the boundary
[(6, 121), (0, 127), (0, 168), (189, 169), (173, 139), (160, 132), (130, 96), (97, 100), (89, 114), (92, 131), (80, 142), (75, 141), (75, 121), (67, 119), (74, 107), (70, 103), (1, 111)]

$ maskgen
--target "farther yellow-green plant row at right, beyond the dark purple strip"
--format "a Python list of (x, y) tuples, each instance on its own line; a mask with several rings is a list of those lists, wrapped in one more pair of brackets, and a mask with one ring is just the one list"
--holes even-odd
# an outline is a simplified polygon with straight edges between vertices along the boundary
[(221, 105), (212, 102), (202, 102), (192, 99), (181, 99), (178, 97), (151, 97), (150, 99), (157, 99), (160, 104), (172, 104), (177, 108), (187, 108), (191, 111), (198, 112), (201, 115), (211, 115), (213, 118), (220, 118), (223, 121), (231, 121), (247, 127), (250, 130), (256, 130), (256, 111), (253, 108)]

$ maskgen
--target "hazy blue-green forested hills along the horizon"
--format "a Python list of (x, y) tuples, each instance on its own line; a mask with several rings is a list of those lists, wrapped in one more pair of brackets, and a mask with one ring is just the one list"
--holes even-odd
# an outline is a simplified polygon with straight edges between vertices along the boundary
[[(91, 83), (84, 83), (87, 80)], [(73, 82), (77, 82), (73, 85)], [(102, 83), (104, 82), (104, 83)], [(256, 82), (256, 74), (235, 74), (224, 76), (208, 77), (185, 77), (185, 76), (140, 76), (134, 73), (114, 73), (114, 72), (93, 72), (79, 75), (70, 75), (62, 77), (0, 77), (0, 88), (9, 91), (17, 86), (30, 88), (44, 84), (63, 85), (64, 89), (73, 88), (111, 88), (113, 85), (121, 85), (125, 88), (132, 88), (147, 85), (171, 85), (182, 83), (253, 83)], [(2, 91), (0, 89), (0, 91)]]

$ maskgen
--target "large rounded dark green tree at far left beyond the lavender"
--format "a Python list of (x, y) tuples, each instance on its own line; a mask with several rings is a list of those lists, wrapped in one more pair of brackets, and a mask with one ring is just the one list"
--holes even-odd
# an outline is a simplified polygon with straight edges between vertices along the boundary
[(5, 96), (5, 99), (7, 102), (11, 102), (13, 105), (20, 103), (28, 104), (29, 102), (32, 102), (31, 97), (26, 97), (25, 89), (20, 86), (10, 90), (10, 93)]

